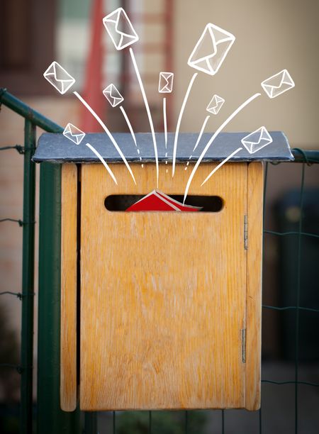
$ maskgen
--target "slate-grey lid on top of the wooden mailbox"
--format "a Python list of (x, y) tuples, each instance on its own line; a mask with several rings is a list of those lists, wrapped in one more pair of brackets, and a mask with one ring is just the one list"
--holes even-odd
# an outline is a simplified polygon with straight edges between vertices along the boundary
[[(177, 163), (198, 159), (203, 148), (213, 133), (205, 133), (201, 137), (196, 150), (193, 152), (194, 145), (198, 138), (198, 133), (180, 133), (177, 146)], [(240, 140), (249, 133), (220, 133), (214, 140), (211, 148), (203, 157), (203, 162), (221, 161), (230, 155), (234, 150), (240, 148)], [(230, 161), (289, 161), (293, 160), (293, 155), (289, 148), (288, 140), (284, 133), (272, 131), (269, 133), (273, 142), (261, 150), (250, 154), (244, 147)], [(118, 146), (121, 148), (128, 162), (155, 162), (155, 153), (150, 133), (136, 134), (138, 148), (135, 147), (133, 138), (129, 133), (114, 133)], [(164, 145), (164, 134), (157, 133), (157, 152), (159, 162), (172, 162), (174, 133), (168, 133), (167, 149)], [(38, 140), (38, 148), (33, 155), (35, 162), (77, 162), (90, 163), (99, 162), (98, 157), (86, 146), (90, 143), (106, 160), (110, 163), (122, 162), (116, 148), (105, 133), (86, 134), (80, 145), (75, 145), (71, 140), (62, 134), (44, 133)], [(138, 154), (140, 150), (140, 154)]]

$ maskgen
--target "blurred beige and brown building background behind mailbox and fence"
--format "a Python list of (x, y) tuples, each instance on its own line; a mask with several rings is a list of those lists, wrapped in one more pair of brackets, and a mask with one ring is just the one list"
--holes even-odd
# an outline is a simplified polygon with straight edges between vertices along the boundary
[[(72, 94), (57, 94), (43, 78), (48, 65), (57, 60), (77, 79), (75, 90), (85, 94), (111, 131), (127, 131), (127, 126), (119, 111), (111, 109), (101, 94), (110, 83), (116, 84), (125, 97), (124, 106), (135, 131), (148, 131), (145, 106), (128, 51), (114, 49), (100, 19), (120, 6), (128, 12), (140, 36), (133, 49), (157, 131), (163, 128), (162, 96), (157, 91), (159, 71), (172, 70), (175, 74), (174, 92), (167, 99), (169, 130), (174, 131), (189, 79), (194, 73), (187, 66), (187, 60), (206, 23), (211, 22), (233, 33), (236, 41), (216, 76), (198, 74), (181, 131), (200, 130), (206, 117), (206, 106), (215, 93), (226, 101), (220, 113), (211, 116), (206, 126), (206, 132), (216, 130), (242, 101), (255, 92), (262, 92), (260, 82), (281, 69), (288, 69), (296, 83), (293, 90), (274, 100), (262, 92), (262, 97), (242, 111), (225, 130), (250, 132), (264, 125), (268, 130), (283, 130), (292, 148), (319, 149), (317, 0), (3, 0), (1, 87), (6, 87), (61, 126), (71, 122), (81, 127), (86, 122), (89, 130), (99, 130), (94, 119), (84, 120), (82, 107)], [(1, 108), (0, 130), (0, 146), (23, 144), (23, 121), (5, 107)], [(278, 208), (276, 204), (282, 203), (280, 199), (287, 192), (298, 189), (300, 177), (301, 166), (283, 164), (280, 170), (269, 168), (266, 228), (279, 227), (280, 206)], [(1, 152), (0, 218), (21, 218), (22, 182), (21, 157), (13, 151)], [(318, 169), (315, 167), (307, 171), (306, 186), (318, 193), (315, 190), (319, 187)], [(289, 205), (291, 203), (293, 200), (287, 208), (294, 206), (296, 211), (295, 205)], [(293, 211), (287, 211), (286, 216), (291, 224), (296, 222)], [(21, 230), (14, 223), (2, 224), (0, 243), (0, 291), (19, 291)], [(278, 305), (282, 285), (279, 276), (281, 247), (274, 238), (267, 238), (265, 243), (264, 303)], [(318, 281), (316, 289), (318, 291)], [(18, 339), (18, 301), (2, 297), (0, 303), (4, 306), (7, 323)], [(284, 357), (281, 323), (276, 313), (269, 312), (264, 316), (265, 359)], [(318, 375), (318, 368), (315, 368), (315, 375)], [(10, 385), (6, 387), (1, 389), (0, 386), (1, 399), (11, 388)]]

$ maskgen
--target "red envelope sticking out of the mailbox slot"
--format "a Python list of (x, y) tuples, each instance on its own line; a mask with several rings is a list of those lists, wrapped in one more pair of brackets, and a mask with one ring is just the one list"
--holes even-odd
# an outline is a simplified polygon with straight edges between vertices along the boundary
[(198, 206), (183, 205), (161, 191), (153, 190), (126, 211), (200, 211)]

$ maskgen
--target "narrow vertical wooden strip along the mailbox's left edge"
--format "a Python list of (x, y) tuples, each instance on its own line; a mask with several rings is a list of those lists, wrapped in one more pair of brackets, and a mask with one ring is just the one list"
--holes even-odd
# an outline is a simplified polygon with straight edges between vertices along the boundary
[(64, 411), (77, 406), (77, 166), (62, 165), (61, 382)]

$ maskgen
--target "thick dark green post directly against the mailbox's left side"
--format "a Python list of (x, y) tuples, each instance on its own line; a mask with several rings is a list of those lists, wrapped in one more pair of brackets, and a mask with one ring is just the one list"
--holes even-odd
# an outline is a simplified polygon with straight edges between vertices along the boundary
[(38, 434), (80, 433), (79, 411), (60, 409), (61, 165), (40, 167)]

